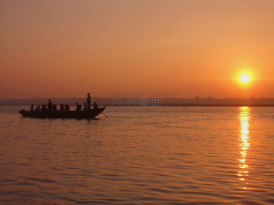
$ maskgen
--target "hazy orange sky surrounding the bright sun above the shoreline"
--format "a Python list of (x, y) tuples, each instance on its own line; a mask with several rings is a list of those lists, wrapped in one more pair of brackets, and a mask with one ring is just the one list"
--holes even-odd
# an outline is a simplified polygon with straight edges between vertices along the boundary
[(0, 99), (88, 92), (274, 98), (274, 1), (0, 0)]

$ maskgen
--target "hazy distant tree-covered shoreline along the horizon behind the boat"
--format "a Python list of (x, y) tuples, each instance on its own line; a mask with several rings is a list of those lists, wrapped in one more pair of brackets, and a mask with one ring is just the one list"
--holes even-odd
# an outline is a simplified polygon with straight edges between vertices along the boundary
[[(53, 104), (57, 106), (62, 104), (68, 103), (69, 106), (75, 106), (75, 103), (79, 103), (84, 105), (86, 102), (86, 98), (50, 98)], [(207, 98), (199, 98), (195, 97), (193, 99), (187, 98), (100, 98), (100, 97), (92, 97), (92, 102), (96, 101), (99, 106), (116, 106), (120, 107), (123, 106), (137, 106), (145, 100), (146, 104), (152, 103), (154, 100), (157, 103), (156, 105), (160, 104), (161, 107), (242, 107), (242, 106), (249, 106), (249, 107), (274, 107), (274, 98), (249, 98), (249, 99), (241, 99), (241, 98), (225, 98), (225, 99), (215, 99), (212, 97)], [(156, 100), (155, 100), (156, 99)], [(33, 99), (9, 99), (3, 100), (0, 99), (0, 106), (4, 105), (13, 105), (13, 106), (34, 106), (43, 105), (48, 103), (49, 98), (33, 98)], [(143, 101), (141, 101), (143, 100)], [(153, 102), (154, 102), (153, 101)], [(114, 104), (114, 105), (113, 105)], [(144, 107), (144, 106), (140, 106)], [(153, 106), (152, 106), (153, 107)]]

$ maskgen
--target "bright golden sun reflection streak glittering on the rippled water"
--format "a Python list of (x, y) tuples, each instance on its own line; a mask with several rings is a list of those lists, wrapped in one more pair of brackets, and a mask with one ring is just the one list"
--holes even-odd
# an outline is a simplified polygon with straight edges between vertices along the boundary
[[(245, 178), (248, 176), (248, 165), (246, 163), (246, 157), (247, 157), (247, 151), (250, 149), (250, 136), (249, 136), (249, 118), (250, 118), (250, 110), (249, 107), (240, 107), (239, 108), (239, 114), (238, 119), (240, 122), (240, 133), (239, 133), (239, 147), (241, 147), (241, 159), (239, 160), (239, 168), (238, 176), (239, 180), (245, 180)], [(245, 186), (247, 183), (245, 183)], [(246, 189), (247, 187), (243, 187), (243, 189)]]

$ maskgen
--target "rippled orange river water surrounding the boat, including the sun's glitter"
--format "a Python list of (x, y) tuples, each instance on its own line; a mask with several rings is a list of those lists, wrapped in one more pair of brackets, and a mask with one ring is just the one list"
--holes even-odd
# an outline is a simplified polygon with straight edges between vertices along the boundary
[(0, 204), (274, 204), (273, 107), (21, 109), (0, 106)]

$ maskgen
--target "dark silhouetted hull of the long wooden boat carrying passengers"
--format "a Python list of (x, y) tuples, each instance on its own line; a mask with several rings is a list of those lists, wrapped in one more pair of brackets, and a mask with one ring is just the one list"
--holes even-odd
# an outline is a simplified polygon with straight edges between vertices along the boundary
[[(89, 110), (74, 110), (74, 111), (25, 111), (18, 110), (23, 117), (35, 117), (35, 118), (94, 118), (101, 114), (106, 106), (97, 109)], [(103, 113), (104, 114), (104, 113)]]

